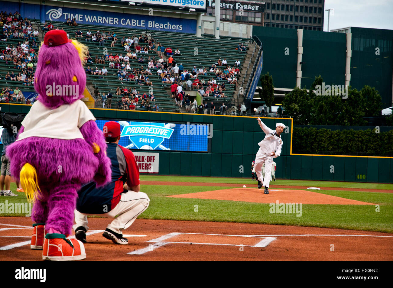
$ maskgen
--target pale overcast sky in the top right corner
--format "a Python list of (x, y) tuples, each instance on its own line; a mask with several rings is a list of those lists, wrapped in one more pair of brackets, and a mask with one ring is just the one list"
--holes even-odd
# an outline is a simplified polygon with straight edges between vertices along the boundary
[[(393, 0), (325, 0), (325, 9), (330, 11), (329, 29), (365, 27), (393, 29)], [(327, 31), (325, 11), (323, 31)]]

